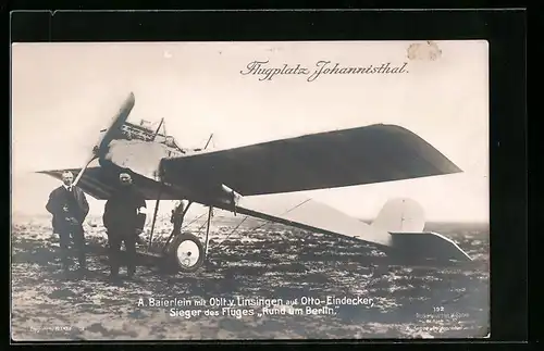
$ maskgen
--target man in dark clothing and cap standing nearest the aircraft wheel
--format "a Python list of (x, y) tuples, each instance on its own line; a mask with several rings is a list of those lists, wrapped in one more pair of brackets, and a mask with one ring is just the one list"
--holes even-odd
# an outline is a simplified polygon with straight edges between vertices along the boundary
[(108, 230), (110, 247), (110, 278), (119, 277), (121, 265), (121, 243), (124, 241), (126, 250), (127, 277), (132, 278), (136, 272), (136, 240), (146, 223), (146, 199), (133, 186), (128, 173), (119, 176), (120, 186), (106, 202), (102, 216), (103, 225)]

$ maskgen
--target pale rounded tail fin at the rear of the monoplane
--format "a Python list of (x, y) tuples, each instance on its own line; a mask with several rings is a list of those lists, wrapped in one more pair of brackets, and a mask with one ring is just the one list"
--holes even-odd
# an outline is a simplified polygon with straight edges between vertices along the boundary
[(423, 208), (408, 198), (388, 200), (371, 226), (390, 233), (423, 231), (425, 227)]

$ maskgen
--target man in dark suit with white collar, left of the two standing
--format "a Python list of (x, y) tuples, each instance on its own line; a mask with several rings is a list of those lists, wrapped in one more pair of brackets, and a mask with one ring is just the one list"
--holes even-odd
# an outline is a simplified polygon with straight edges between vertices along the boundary
[(46, 209), (53, 215), (53, 233), (59, 235), (64, 272), (70, 272), (69, 246), (73, 241), (79, 261), (79, 272), (85, 273), (87, 265), (83, 222), (89, 213), (89, 204), (83, 190), (72, 185), (74, 175), (71, 172), (62, 174), (63, 185), (51, 191)]

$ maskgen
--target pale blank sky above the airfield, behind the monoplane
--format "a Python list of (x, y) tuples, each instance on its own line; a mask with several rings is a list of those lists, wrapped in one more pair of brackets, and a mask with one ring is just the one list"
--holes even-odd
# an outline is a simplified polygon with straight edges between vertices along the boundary
[[(46, 213), (60, 183), (33, 171), (81, 166), (133, 91), (129, 121), (165, 117), (182, 147), (217, 149), (373, 123), (404, 126), (463, 173), (305, 193), (357, 217), (390, 198), (420, 202), (429, 221), (489, 218), (485, 41), (438, 41), (437, 60), (409, 60), (412, 42), (34, 43), (12, 48), (13, 210)], [(341, 66), (408, 62), (398, 75), (242, 75), (329, 60)], [(168, 209), (169, 205), (165, 205)], [(92, 201), (100, 214), (103, 202)], [(195, 211), (203, 211), (196, 208)]]

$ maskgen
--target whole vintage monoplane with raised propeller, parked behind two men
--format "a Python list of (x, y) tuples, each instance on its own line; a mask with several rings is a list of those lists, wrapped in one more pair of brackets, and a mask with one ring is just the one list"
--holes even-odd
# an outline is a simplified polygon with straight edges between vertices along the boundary
[[(346, 187), (461, 172), (413, 133), (395, 125), (305, 135), (234, 149), (183, 149), (165, 133), (126, 122), (135, 104), (131, 93), (82, 168), (44, 171), (58, 179), (77, 174), (75, 184), (106, 200), (128, 171), (148, 200), (187, 200), (209, 208), (205, 243), (189, 234), (168, 238), (163, 252), (182, 271), (206, 260), (212, 209), (218, 208), (313, 233), (362, 240), (407, 258), (470, 261), (455, 242), (423, 233), (422, 209), (409, 199), (387, 202), (372, 224), (312, 200), (256, 201), (256, 196)], [(163, 120), (161, 120), (162, 124)], [(97, 166), (89, 166), (98, 159)], [(363, 201), (363, 199), (361, 199)]]

